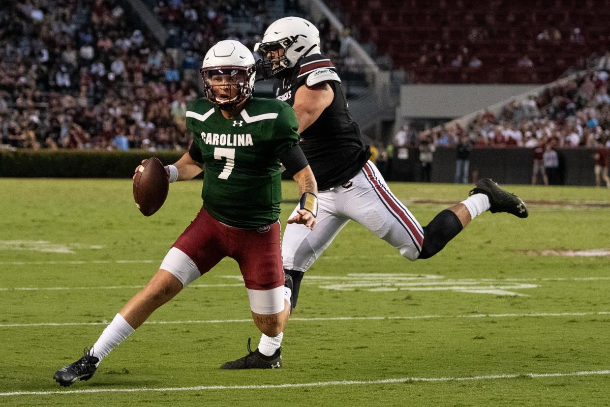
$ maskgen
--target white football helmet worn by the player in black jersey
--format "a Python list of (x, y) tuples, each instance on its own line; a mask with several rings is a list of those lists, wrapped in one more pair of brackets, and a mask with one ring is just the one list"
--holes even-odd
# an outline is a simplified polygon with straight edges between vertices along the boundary
[[(270, 56), (270, 51), (284, 49), (283, 56)], [(320, 53), (320, 32), (314, 24), (300, 17), (284, 17), (271, 23), (262, 42), (254, 45), (262, 60), (257, 68), (265, 79), (295, 67), (296, 62), (309, 54)]]

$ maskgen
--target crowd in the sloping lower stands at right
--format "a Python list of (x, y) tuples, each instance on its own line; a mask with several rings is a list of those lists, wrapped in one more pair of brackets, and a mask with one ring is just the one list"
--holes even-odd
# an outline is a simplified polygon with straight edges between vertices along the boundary
[(563, 81), (538, 96), (509, 103), (498, 117), (486, 110), (467, 128), (441, 126), (420, 133), (419, 140), (456, 146), (466, 136), (474, 147), (596, 148), (610, 140), (609, 76), (597, 70)]

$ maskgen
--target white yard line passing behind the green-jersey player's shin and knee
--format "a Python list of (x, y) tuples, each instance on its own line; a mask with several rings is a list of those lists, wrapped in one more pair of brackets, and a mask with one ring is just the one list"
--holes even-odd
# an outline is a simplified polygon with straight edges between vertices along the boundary
[[(529, 314), (464, 314), (464, 315), (405, 315), (395, 317), (312, 317), (291, 318), (292, 322), (318, 321), (367, 321), (367, 320), (416, 320), (416, 319), (463, 319), (463, 318), (541, 318), (541, 317), (587, 317), (594, 315), (610, 315), (610, 311), (600, 312), (533, 312)], [(189, 323), (235, 323), (252, 322), (252, 319), (211, 319), (184, 321), (147, 321), (146, 325), (181, 325)], [(109, 322), (38, 322), (38, 323), (0, 323), (0, 328), (16, 328), (22, 326), (84, 326), (108, 325)]]

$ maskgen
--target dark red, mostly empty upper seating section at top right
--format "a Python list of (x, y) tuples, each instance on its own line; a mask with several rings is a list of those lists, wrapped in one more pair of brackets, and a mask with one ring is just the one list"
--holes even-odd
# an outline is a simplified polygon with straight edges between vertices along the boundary
[(609, 0), (333, 0), (417, 83), (548, 83), (610, 40)]

